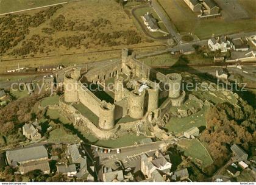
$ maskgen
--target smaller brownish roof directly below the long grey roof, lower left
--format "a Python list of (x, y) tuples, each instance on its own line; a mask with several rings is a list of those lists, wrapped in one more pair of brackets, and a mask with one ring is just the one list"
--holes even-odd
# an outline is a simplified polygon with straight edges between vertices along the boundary
[(50, 171), (51, 169), (48, 161), (28, 162), (20, 166), (20, 172), (23, 174), (26, 174), (27, 172), (31, 172), (34, 170), (41, 170), (42, 172), (47, 172)]

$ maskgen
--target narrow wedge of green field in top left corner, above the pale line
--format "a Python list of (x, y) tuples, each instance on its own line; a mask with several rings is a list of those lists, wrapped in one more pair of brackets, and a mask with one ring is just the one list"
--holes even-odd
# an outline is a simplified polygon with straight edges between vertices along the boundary
[(0, 14), (26, 9), (34, 9), (37, 7), (57, 4), (66, 1), (69, 0), (0, 0)]

